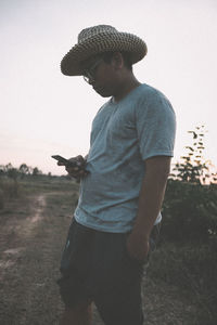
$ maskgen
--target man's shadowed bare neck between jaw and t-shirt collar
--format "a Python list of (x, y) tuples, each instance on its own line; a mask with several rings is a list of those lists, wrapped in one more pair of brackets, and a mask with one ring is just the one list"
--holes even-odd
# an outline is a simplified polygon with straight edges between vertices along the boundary
[(115, 102), (122, 101), (130, 91), (140, 86), (141, 83), (133, 75), (122, 80), (119, 87), (116, 88), (116, 93), (113, 95)]

